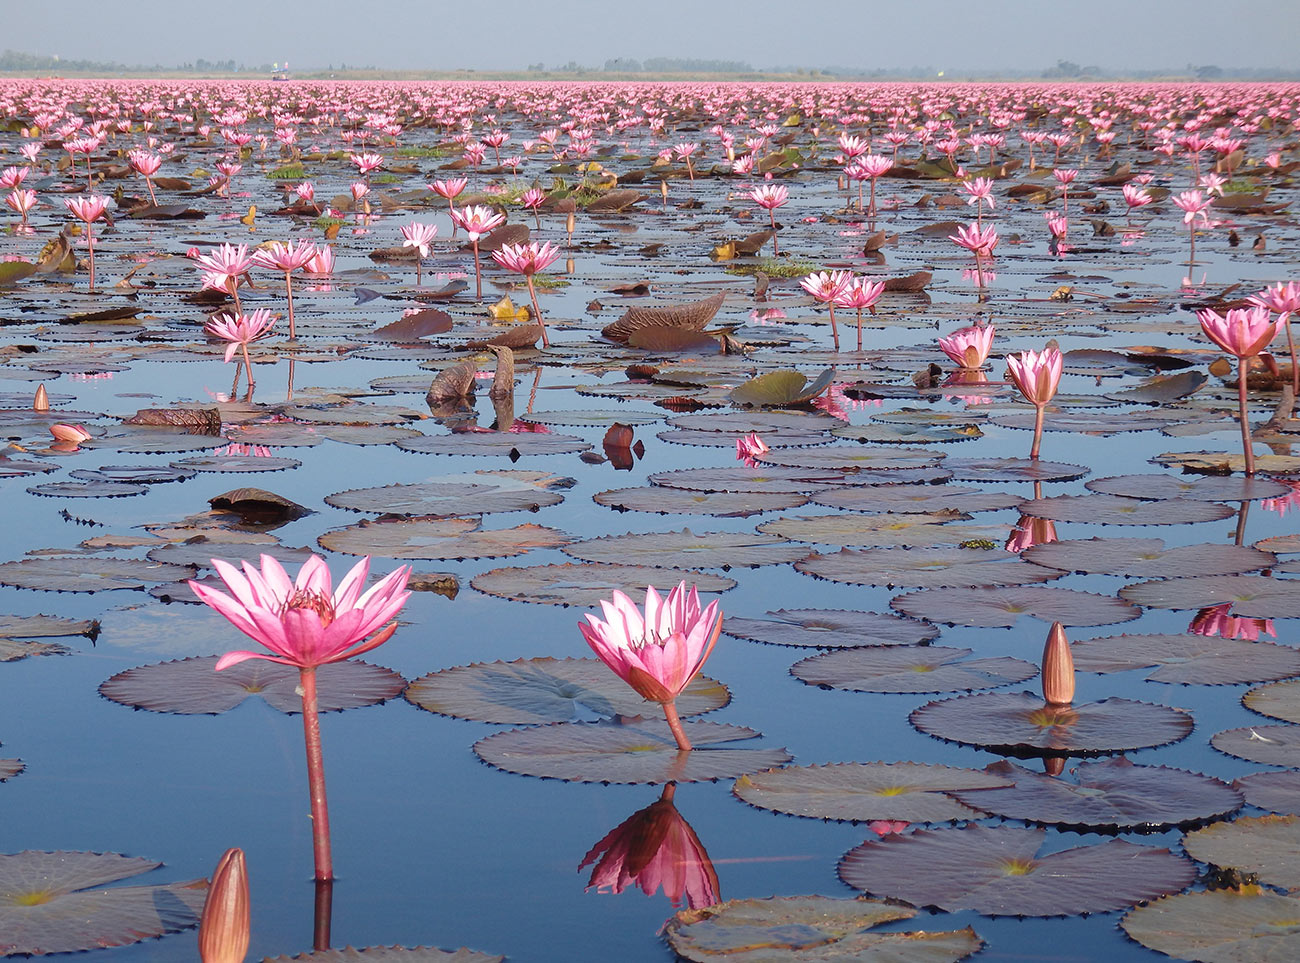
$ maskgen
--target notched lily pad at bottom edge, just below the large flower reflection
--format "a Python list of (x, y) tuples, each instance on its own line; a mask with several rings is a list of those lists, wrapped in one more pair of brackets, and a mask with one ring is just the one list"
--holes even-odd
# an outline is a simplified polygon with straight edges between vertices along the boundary
[(957, 963), (983, 947), (975, 931), (872, 933), (915, 910), (870, 899), (772, 897), (681, 910), (664, 938), (694, 963)]

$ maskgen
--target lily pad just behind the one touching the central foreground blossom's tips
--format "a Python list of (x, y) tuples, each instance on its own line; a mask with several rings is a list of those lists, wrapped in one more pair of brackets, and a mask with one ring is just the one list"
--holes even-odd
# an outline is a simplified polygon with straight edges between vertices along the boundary
[(753, 532), (654, 532), (603, 535), (564, 546), (566, 555), (581, 561), (632, 563), (656, 568), (758, 568), (802, 559), (806, 546), (780, 535)]

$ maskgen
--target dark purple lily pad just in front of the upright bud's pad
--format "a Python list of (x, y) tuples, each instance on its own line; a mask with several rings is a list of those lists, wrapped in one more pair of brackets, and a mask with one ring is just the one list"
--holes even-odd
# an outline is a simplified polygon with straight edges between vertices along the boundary
[(1123, 756), (1080, 762), (1060, 776), (1005, 759), (985, 772), (1013, 785), (958, 791), (957, 798), (1027, 823), (1150, 832), (1219, 819), (1242, 807), (1242, 794), (1226, 782), (1167, 765), (1134, 765)]

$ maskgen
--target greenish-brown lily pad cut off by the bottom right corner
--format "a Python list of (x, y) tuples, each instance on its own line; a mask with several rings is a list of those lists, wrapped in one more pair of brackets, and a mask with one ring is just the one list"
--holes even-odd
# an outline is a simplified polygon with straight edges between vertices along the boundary
[(1300, 899), (1258, 886), (1210, 889), (1139, 906), (1119, 925), (1149, 950), (1200, 963), (1300, 957)]

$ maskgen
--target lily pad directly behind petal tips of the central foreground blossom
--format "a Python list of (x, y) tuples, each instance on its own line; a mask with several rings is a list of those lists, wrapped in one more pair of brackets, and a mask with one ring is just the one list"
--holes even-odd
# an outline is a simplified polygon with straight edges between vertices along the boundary
[(598, 561), (494, 568), (476, 576), (469, 585), (485, 595), (514, 602), (590, 608), (599, 604), (601, 599), (608, 599), (615, 589), (636, 597), (638, 593), (644, 594), (647, 585), (653, 585), (667, 595), (681, 581), (694, 585), (699, 591), (727, 591), (736, 587), (734, 578), (693, 569), (608, 565)]

